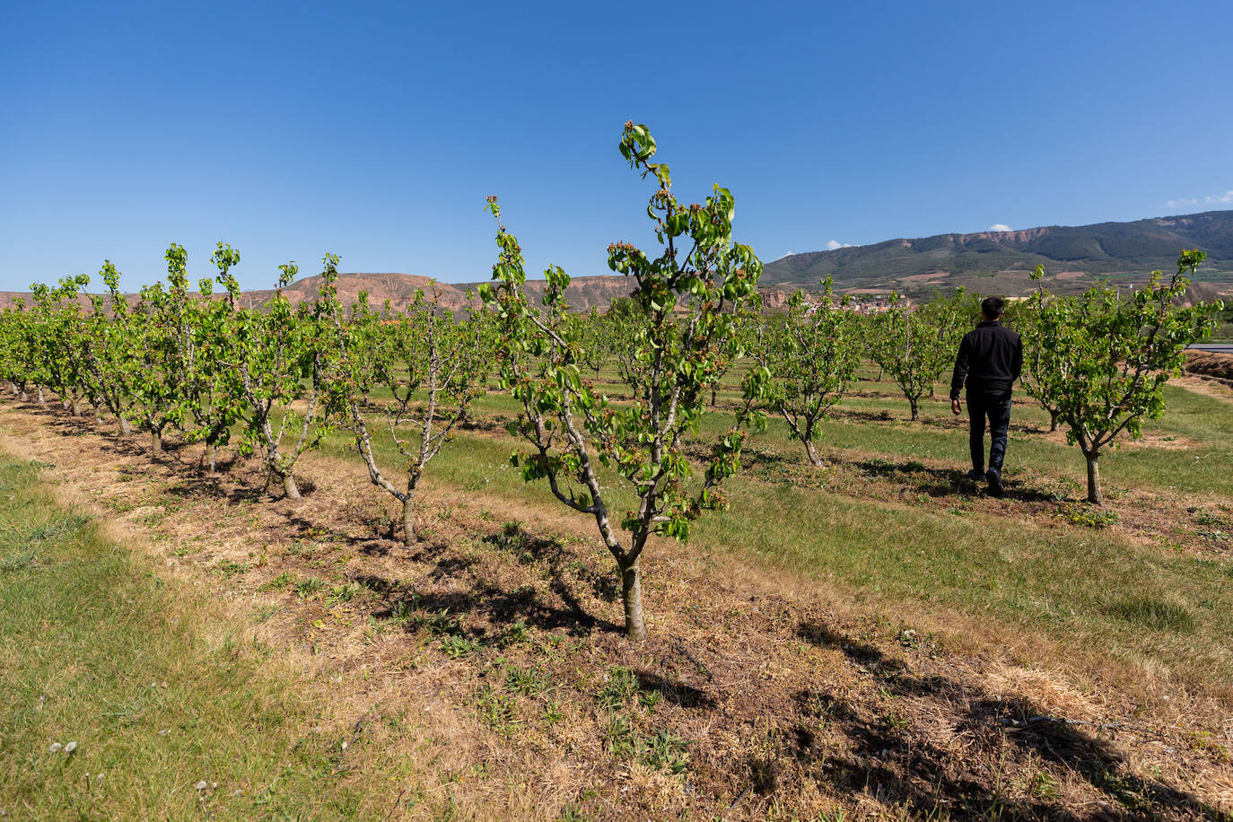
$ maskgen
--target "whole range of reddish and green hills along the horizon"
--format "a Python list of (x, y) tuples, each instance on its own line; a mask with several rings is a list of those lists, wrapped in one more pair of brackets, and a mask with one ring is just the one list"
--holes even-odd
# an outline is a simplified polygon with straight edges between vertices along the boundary
[[(766, 265), (762, 291), (767, 304), (774, 307), (797, 288), (816, 290), (819, 281), (831, 275), (836, 291), (852, 295), (898, 291), (922, 297), (962, 286), (978, 293), (1016, 296), (1033, 287), (1030, 276), (1039, 264), (1052, 291), (1078, 293), (1099, 277), (1128, 285), (1145, 281), (1153, 270), (1171, 274), (1181, 249), (1207, 253), (1207, 261), (1192, 277), (1195, 298), (1233, 298), (1233, 211), (1126, 223), (935, 234), (790, 254)], [(428, 282), (428, 277), (409, 274), (344, 274), (338, 287), (344, 303), (367, 291), (374, 306), (388, 299), (401, 309)], [(441, 304), (460, 311), (466, 306), (467, 290), (473, 291), (477, 285), (438, 283)], [(306, 277), (286, 288), (286, 293), (292, 302), (300, 302), (312, 299), (318, 287), (319, 276)], [(528, 281), (526, 288), (538, 297), (544, 282)], [(588, 311), (605, 308), (629, 291), (625, 277), (607, 275), (575, 277), (568, 295), (576, 309)], [(247, 291), (244, 299), (248, 304), (260, 304), (272, 293)], [(0, 292), (0, 308), (21, 296), (21, 292)]]

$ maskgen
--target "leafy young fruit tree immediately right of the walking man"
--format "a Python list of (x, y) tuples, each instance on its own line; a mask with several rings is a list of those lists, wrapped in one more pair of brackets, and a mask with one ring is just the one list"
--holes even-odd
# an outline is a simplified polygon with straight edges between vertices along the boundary
[[(1096, 285), (1079, 297), (1054, 298), (1043, 287), (1030, 311), (1034, 344), (1047, 378), (1048, 403), (1088, 461), (1088, 502), (1105, 502), (1100, 456), (1123, 433), (1142, 434), (1144, 419), (1164, 414), (1164, 386), (1180, 373), (1186, 346), (1215, 328), (1219, 301), (1180, 304), (1194, 274), (1207, 255), (1182, 251), (1178, 272), (1165, 281), (1160, 271), (1132, 296)], [(1044, 269), (1032, 275), (1039, 281)]]

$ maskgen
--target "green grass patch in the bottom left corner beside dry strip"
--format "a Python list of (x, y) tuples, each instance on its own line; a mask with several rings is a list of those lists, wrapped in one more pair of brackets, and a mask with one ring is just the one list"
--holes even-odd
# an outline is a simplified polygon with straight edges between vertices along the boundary
[(31, 820), (358, 818), (301, 695), (0, 456), (0, 811)]

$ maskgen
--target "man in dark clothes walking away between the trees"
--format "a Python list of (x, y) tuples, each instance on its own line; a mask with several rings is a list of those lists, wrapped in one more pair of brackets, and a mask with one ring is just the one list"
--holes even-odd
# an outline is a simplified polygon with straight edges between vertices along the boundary
[[(954, 357), (951, 377), (951, 410), (961, 412), (959, 389), (968, 383), (968, 415), (972, 419), (973, 479), (984, 478), (989, 493), (1002, 495), (1001, 467), (1006, 456), (1006, 426), (1010, 425), (1010, 392), (1023, 370), (1023, 343), (1018, 334), (1001, 324), (1006, 301), (985, 297), (980, 302), (984, 322), (968, 332)], [(985, 471), (985, 420), (989, 420), (989, 471)]]

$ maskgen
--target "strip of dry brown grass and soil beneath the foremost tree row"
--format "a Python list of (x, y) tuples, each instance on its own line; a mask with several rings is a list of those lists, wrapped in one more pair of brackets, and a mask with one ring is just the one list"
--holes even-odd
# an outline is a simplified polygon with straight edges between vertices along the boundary
[(1201, 696), (1144, 709), (668, 541), (649, 550), (650, 640), (631, 645), (610, 560), (556, 509), (433, 489), (408, 548), (354, 465), (307, 456), (290, 504), (250, 462), (205, 477), (195, 446), (142, 444), (0, 403), (0, 449), (49, 463), (65, 502), (231, 603), (302, 672), (290, 686), (328, 696), (359, 778), (377, 778), (370, 747), (406, 751), (419, 776), (385, 818), (1233, 813), (1229, 731)]

